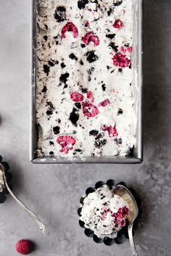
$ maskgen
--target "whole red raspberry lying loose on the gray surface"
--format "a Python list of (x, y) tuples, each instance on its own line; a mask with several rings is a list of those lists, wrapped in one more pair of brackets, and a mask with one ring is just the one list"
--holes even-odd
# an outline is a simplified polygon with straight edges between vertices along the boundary
[(28, 255), (30, 252), (33, 251), (34, 244), (32, 241), (22, 239), (17, 242), (15, 245), (17, 252), (21, 255)]

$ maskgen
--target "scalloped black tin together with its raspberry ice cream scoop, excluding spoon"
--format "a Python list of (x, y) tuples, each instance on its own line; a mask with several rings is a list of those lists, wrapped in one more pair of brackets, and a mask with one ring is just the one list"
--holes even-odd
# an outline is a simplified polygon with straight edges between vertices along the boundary
[[(125, 183), (120, 183), (121, 185)], [(128, 202), (115, 194), (116, 183), (113, 180), (104, 183), (99, 181), (94, 187), (86, 190), (86, 196), (80, 199), (80, 226), (85, 228), (85, 234), (93, 237), (93, 240), (111, 245), (122, 242), (128, 238), (128, 215), (130, 208)], [(134, 194), (133, 189), (129, 189)], [(140, 199), (135, 197), (138, 203), (138, 217), (133, 225), (133, 233), (141, 222)]]

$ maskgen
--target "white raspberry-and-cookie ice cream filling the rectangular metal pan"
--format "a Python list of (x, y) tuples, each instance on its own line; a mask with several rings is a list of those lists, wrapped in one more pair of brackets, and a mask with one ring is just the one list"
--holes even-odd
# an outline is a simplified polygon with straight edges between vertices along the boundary
[(39, 0), (37, 22), (38, 156), (130, 154), (133, 0)]

